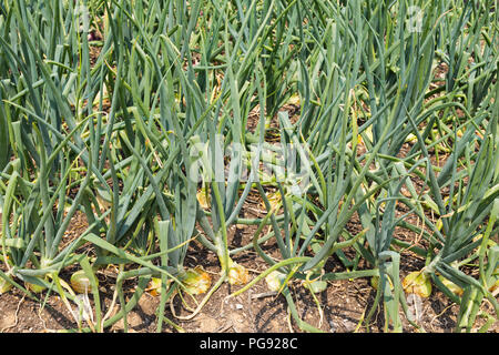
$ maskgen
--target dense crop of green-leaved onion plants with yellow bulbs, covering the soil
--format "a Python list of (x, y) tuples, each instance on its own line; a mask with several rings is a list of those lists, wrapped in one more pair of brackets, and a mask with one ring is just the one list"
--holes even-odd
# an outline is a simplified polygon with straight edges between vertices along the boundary
[[(33, 285), (60, 294), (75, 331), (121, 318), (128, 331), (155, 280), (156, 331), (183, 331), (165, 312), (191, 290), (193, 240), (221, 274), (180, 320), (224, 282), (242, 286), (235, 296), (278, 271), (303, 331), (320, 329), (288, 281), (319, 305), (328, 281), (356, 277), (378, 280), (367, 329), (378, 306), (385, 331), (401, 332), (401, 314), (421, 329), (400, 280), (406, 250), (459, 304), (457, 332), (499, 315), (493, 0), (4, 0), (0, 32), (0, 277), (33, 298)], [(264, 215), (244, 219), (251, 193)], [(78, 214), (88, 227), (68, 240)], [(256, 225), (249, 244), (231, 246), (235, 224)], [(268, 265), (254, 280), (234, 261), (249, 248)], [(106, 308), (108, 265), (119, 272)], [(92, 285), (86, 298), (63, 280), (70, 267)]]

